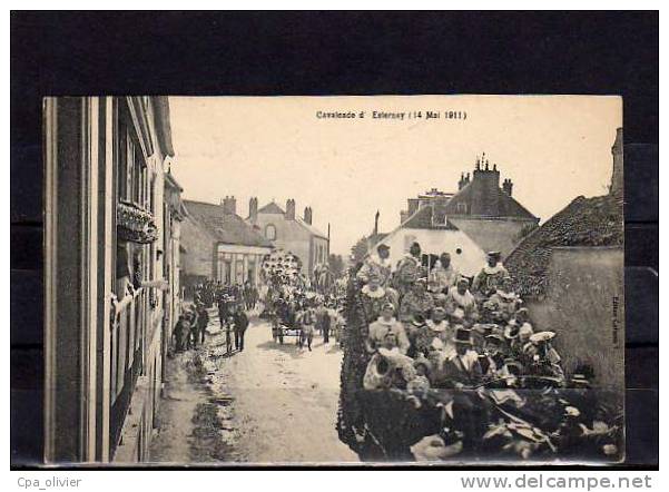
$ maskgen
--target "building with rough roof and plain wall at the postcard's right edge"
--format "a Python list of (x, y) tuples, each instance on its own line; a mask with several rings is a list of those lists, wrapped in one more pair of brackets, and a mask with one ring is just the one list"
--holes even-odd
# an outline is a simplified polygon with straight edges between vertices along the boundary
[(565, 371), (587, 366), (596, 386), (618, 392), (624, 383), (622, 129), (611, 154), (610, 193), (574, 198), (524, 238), (505, 265), (535, 331), (558, 333)]

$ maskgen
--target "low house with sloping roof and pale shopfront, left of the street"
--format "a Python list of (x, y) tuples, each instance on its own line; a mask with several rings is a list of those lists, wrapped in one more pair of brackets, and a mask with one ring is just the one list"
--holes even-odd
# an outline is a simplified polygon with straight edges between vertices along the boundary
[(273, 246), (237, 215), (235, 197), (225, 197), (219, 205), (194, 200), (184, 204), (181, 244), (186, 286), (206, 279), (258, 285), (260, 264)]

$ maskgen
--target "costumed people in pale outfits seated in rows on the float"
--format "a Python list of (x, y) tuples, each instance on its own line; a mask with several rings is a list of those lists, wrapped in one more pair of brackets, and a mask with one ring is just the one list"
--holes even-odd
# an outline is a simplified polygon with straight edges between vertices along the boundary
[(555, 333), (534, 329), (499, 252), (473, 278), (447, 253), (423, 265), (417, 243), (396, 265), (388, 257), (382, 244), (356, 273), (368, 323), (366, 388), (506, 387), (520, 376), (565, 384)]

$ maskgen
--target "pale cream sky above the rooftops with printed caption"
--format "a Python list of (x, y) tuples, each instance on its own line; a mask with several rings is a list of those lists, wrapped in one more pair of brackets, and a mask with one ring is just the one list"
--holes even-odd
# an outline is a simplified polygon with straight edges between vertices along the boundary
[[(579, 195), (603, 195), (611, 146), (622, 126), (613, 96), (170, 97), (171, 173), (183, 197), (218, 204), (275, 200), (313, 209), (331, 253), (350, 253), (372, 233), (400, 225), (406, 199), (431, 188), (456, 191), (461, 173), (485, 152), (513, 197), (549, 219)], [(318, 111), (364, 118), (318, 118)], [(404, 119), (373, 118), (404, 112)], [(409, 119), (421, 111), (423, 118)], [(425, 119), (426, 111), (440, 119)], [(446, 119), (445, 111), (466, 118)]]

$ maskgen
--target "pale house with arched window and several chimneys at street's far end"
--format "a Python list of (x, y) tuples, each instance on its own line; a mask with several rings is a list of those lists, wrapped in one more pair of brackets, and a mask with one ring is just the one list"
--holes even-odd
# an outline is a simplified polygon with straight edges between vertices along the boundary
[(313, 278), (317, 265), (327, 265), (329, 232), (325, 235), (313, 226), (312, 207), (305, 207), (303, 217), (298, 217), (294, 199), (286, 200), (285, 210), (274, 201), (258, 209), (258, 199), (254, 197), (246, 220), (276, 248), (296, 255), (306, 277)]

